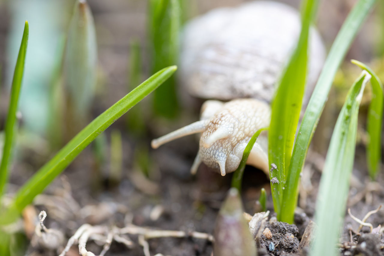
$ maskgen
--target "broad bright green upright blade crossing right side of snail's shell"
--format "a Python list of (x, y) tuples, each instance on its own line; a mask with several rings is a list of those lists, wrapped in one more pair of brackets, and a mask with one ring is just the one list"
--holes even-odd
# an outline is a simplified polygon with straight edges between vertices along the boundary
[(309, 28), (317, 5), (317, 0), (303, 1), (302, 29), (298, 45), (282, 75), (272, 103), (268, 158), (270, 164), (274, 163), (277, 166), (276, 170), (270, 172), (270, 179), (276, 177), (279, 181), (271, 183), (273, 205), (279, 220), (283, 187), (291, 160), (305, 88)]

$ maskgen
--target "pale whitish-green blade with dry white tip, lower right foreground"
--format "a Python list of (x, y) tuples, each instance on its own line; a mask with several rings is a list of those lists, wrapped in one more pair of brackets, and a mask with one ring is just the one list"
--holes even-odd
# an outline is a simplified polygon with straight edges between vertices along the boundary
[(321, 175), (315, 219), (318, 224), (311, 256), (336, 256), (343, 225), (355, 155), (359, 105), (364, 87), (371, 78), (362, 71), (347, 95), (333, 130)]

